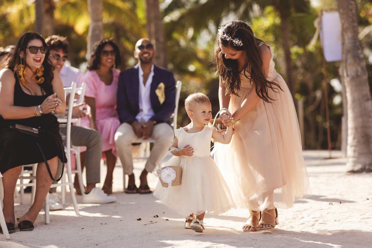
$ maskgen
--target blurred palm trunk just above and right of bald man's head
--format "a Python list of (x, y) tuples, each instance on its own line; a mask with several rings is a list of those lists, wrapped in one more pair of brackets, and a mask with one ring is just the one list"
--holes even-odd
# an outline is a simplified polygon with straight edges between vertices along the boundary
[(167, 68), (167, 50), (164, 39), (163, 18), (160, 15), (159, 1), (146, 0), (147, 33), (155, 45), (155, 64)]

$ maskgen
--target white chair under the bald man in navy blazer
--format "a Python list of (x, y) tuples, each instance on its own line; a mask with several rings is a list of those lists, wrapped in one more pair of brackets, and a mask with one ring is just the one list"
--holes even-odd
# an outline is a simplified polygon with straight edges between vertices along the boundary
[[(176, 108), (174, 109), (173, 114), (170, 116), (172, 118), (172, 123), (170, 124), (173, 127), (173, 130), (177, 129), (177, 115), (178, 115), (178, 102), (180, 100), (180, 94), (181, 94), (181, 87), (182, 87), (182, 81), (177, 81), (176, 83)], [(142, 157), (133, 157), (135, 160), (147, 160), (150, 156), (150, 144), (154, 143), (154, 139), (142, 139), (138, 138), (135, 143), (145, 143), (145, 149), (143, 152)], [(124, 190), (125, 190), (125, 173), (123, 174), (123, 184), (124, 184)]]

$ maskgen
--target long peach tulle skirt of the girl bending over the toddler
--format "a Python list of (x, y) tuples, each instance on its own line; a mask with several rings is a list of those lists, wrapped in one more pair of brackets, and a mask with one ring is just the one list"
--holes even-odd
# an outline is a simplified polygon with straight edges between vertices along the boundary
[[(230, 144), (215, 144), (216, 164), (237, 207), (287, 208), (296, 198), (311, 196), (294, 103), (285, 81), (277, 75), (275, 82), (283, 91), (271, 93), (276, 100), (260, 100), (234, 125)], [(231, 113), (250, 91), (241, 88), (240, 96), (231, 96)]]

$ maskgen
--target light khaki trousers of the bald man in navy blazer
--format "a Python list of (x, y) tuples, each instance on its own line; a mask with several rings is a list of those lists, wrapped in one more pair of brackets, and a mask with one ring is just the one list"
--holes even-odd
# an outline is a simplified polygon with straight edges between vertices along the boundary
[[(153, 149), (151, 149), (150, 157), (145, 164), (147, 172), (154, 170), (155, 166), (161, 158), (169, 150), (169, 146), (174, 139), (173, 128), (167, 123), (159, 123), (154, 125), (151, 138), (155, 140)], [(133, 173), (133, 158), (132, 158), (132, 143), (138, 139), (135, 135), (132, 126), (129, 123), (122, 123), (115, 133), (116, 151), (123, 165), (123, 171), (126, 175)]]

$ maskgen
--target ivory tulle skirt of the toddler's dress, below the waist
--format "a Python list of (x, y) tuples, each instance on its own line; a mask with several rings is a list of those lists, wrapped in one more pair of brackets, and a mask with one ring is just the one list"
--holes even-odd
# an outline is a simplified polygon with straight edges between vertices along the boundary
[[(180, 157), (172, 157), (166, 166), (179, 164)], [(211, 157), (183, 158), (181, 185), (165, 188), (159, 182), (154, 196), (185, 216), (203, 212), (219, 215), (235, 207), (230, 190)]]

